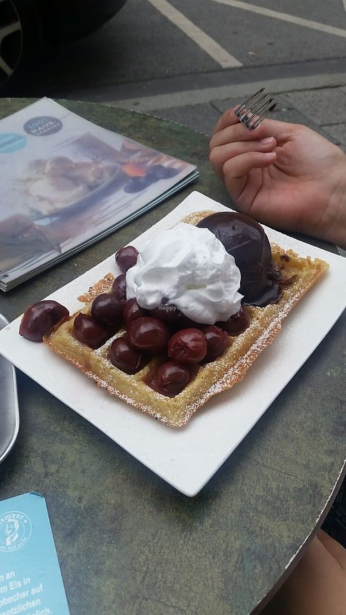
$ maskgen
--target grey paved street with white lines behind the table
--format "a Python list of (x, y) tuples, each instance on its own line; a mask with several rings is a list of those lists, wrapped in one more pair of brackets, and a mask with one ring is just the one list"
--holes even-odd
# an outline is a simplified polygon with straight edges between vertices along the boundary
[(260, 86), (279, 101), (273, 117), (346, 150), (346, 0), (127, 0), (101, 30), (48, 50), (19, 94), (112, 104), (210, 134)]

